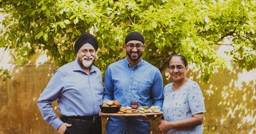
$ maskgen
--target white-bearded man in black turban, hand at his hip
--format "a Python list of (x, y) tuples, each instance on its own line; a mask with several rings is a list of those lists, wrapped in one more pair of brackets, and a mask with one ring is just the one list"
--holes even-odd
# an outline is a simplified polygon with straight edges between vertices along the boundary
[[(77, 38), (76, 59), (54, 72), (37, 101), (44, 120), (60, 134), (101, 134), (99, 105), (102, 103), (102, 75), (93, 66), (98, 43), (92, 34)], [(60, 118), (52, 101), (58, 100)]]

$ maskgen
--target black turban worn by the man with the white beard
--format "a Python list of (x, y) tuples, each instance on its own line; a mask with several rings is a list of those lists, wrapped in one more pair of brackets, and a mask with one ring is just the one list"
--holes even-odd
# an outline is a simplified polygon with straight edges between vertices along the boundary
[(90, 43), (90, 45), (92, 45), (95, 51), (98, 50), (98, 42), (95, 36), (89, 33), (84, 33), (76, 39), (75, 46), (74, 46), (75, 52), (77, 53), (79, 49), (86, 43)]

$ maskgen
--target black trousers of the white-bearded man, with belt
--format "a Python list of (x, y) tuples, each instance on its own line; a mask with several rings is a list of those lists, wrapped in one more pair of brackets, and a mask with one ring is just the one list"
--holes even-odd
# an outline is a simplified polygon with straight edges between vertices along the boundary
[(60, 118), (64, 123), (72, 124), (67, 127), (65, 134), (101, 134), (101, 119), (68, 119)]

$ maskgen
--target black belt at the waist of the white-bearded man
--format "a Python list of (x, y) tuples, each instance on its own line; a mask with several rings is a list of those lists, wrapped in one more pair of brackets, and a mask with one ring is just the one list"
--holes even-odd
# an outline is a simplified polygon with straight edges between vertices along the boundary
[(94, 115), (94, 116), (64, 116), (61, 115), (61, 118), (67, 119), (67, 120), (74, 120), (74, 121), (92, 121), (93, 123), (99, 123), (100, 116)]

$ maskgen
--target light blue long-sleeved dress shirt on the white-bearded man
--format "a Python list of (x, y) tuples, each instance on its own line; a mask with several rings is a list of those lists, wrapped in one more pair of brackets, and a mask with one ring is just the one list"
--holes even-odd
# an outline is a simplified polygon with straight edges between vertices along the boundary
[(58, 130), (63, 122), (56, 116), (52, 101), (58, 100), (58, 112), (61, 115), (98, 115), (103, 93), (102, 74), (99, 68), (92, 66), (90, 73), (87, 74), (76, 59), (54, 72), (38, 98), (37, 105), (44, 120)]

